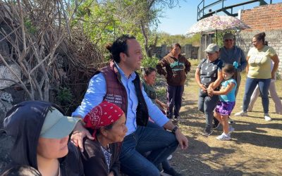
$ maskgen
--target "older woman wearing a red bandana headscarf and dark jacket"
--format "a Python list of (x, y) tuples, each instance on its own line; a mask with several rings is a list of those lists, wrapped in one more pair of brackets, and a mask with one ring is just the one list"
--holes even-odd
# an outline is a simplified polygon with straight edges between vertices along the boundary
[(125, 113), (116, 104), (102, 101), (83, 121), (94, 137), (94, 140), (85, 139), (81, 153), (85, 175), (120, 175), (118, 158), (128, 131)]

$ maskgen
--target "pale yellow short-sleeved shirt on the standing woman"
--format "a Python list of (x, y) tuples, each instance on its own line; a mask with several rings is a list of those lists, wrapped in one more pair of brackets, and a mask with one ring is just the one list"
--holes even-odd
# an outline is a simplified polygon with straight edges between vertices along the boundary
[(250, 49), (249, 56), (249, 73), (247, 77), (257, 79), (271, 78), (271, 57), (276, 54), (276, 51), (270, 46), (264, 46), (262, 49), (255, 47)]

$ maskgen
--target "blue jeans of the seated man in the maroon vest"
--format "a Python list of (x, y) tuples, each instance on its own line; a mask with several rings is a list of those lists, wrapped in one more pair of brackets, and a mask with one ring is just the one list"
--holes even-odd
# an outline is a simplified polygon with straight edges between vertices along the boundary
[[(176, 150), (178, 141), (173, 133), (164, 129), (137, 126), (126, 136), (121, 147), (121, 172), (127, 175), (158, 175), (157, 165)], [(142, 153), (152, 151), (147, 158)]]

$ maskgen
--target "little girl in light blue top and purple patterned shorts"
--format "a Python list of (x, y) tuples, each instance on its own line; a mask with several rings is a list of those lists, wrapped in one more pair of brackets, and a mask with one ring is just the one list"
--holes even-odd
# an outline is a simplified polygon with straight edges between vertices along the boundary
[(222, 68), (224, 81), (221, 82), (221, 89), (219, 91), (208, 90), (209, 94), (219, 95), (219, 102), (214, 109), (214, 117), (222, 124), (223, 133), (216, 137), (218, 140), (230, 140), (230, 134), (234, 131), (234, 128), (228, 125), (228, 116), (235, 106), (235, 90), (237, 87), (237, 82), (234, 79), (236, 77), (235, 74), (236, 70), (234, 66), (226, 64)]

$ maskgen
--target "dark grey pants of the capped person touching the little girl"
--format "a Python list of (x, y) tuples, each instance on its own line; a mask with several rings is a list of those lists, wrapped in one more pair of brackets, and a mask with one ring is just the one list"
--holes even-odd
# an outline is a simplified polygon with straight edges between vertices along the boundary
[(198, 99), (198, 110), (204, 113), (207, 127), (212, 127), (212, 119), (214, 118), (214, 108), (219, 101), (219, 96), (208, 96), (207, 92), (200, 89)]

